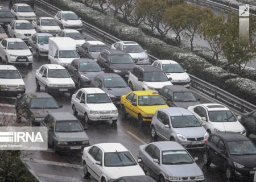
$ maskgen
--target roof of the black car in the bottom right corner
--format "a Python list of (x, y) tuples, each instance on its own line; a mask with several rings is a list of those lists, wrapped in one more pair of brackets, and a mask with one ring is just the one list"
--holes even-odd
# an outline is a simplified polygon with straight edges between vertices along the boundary
[(250, 140), (249, 138), (245, 137), (244, 135), (232, 131), (218, 131), (214, 132), (210, 135), (215, 135), (224, 139), (226, 142), (232, 141), (243, 141), (243, 140)]

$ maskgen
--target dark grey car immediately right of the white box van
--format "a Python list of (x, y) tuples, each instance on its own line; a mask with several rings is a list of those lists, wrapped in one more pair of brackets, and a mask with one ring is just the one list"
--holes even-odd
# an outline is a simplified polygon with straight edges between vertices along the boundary
[(105, 43), (98, 40), (89, 40), (81, 46), (77, 47), (77, 52), (79, 53), (80, 57), (85, 57), (97, 61), (98, 55), (100, 55), (101, 51), (104, 49), (109, 49)]

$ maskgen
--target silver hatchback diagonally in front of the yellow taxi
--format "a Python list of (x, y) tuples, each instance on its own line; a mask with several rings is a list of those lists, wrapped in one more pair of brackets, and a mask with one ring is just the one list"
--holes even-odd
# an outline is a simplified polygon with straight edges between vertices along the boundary
[(151, 137), (176, 141), (185, 148), (204, 148), (209, 135), (204, 127), (187, 109), (165, 107), (156, 110), (151, 121)]

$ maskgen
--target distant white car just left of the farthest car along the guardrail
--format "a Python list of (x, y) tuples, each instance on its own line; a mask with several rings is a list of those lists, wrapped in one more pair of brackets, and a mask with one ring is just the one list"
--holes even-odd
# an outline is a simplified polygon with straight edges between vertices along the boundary
[(32, 21), (32, 25), (39, 33), (49, 33), (55, 36), (60, 31), (60, 27), (56, 20), (51, 17), (40, 17)]

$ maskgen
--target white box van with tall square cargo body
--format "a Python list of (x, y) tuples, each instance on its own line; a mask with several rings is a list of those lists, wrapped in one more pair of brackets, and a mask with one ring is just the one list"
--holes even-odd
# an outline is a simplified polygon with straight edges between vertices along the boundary
[(72, 38), (49, 38), (49, 64), (60, 64), (68, 68), (73, 59), (80, 58), (76, 52), (76, 41)]

